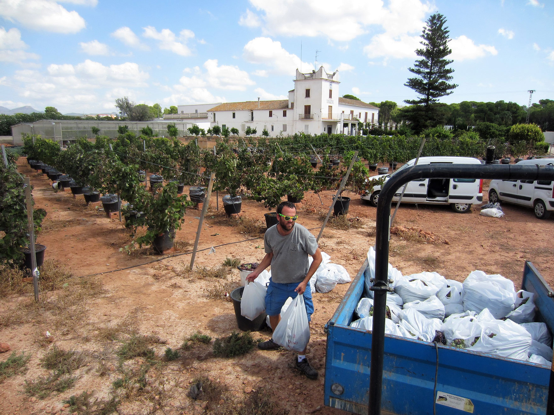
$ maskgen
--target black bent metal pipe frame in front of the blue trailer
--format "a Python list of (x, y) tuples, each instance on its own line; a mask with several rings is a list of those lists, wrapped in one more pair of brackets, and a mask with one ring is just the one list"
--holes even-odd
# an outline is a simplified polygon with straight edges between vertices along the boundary
[[(371, 340), (371, 368), (368, 415), (381, 414), (383, 383), (384, 320), (388, 287), (388, 250), (391, 203), (396, 191), (408, 181), (416, 179), (504, 179), (554, 180), (554, 168), (536, 164), (419, 164), (391, 175), (379, 193), (377, 203), (375, 241), (375, 282), (373, 299), (373, 335)], [(554, 366), (553, 366), (554, 367)], [(402, 397), (398, 397), (401, 399)], [(433, 400), (435, 397), (433, 397)], [(554, 415), (554, 371), (548, 387), (547, 415)]]

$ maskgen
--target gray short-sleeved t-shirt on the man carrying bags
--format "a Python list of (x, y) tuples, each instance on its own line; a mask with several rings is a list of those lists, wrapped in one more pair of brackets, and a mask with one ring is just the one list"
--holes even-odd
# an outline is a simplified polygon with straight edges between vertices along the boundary
[(289, 235), (282, 236), (277, 225), (271, 226), (264, 235), (265, 253), (273, 252), (271, 280), (280, 284), (301, 282), (308, 269), (308, 254), (314, 255), (317, 241), (304, 226), (294, 224)]

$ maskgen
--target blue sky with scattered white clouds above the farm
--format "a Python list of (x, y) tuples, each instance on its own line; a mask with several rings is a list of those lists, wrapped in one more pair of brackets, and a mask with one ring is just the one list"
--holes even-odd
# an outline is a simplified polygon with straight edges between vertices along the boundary
[(459, 85), (442, 102), (554, 98), (551, 0), (0, 0), (0, 106), (285, 98), (316, 50), (341, 96), (402, 103), (416, 96), (403, 84), (434, 12), (448, 20)]

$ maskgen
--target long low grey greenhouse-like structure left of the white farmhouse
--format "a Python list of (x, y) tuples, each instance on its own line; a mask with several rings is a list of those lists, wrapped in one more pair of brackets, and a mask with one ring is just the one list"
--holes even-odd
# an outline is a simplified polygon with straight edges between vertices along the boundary
[(22, 134), (36, 134), (54, 141), (72, 141), (81, 137), (94, 138), (91, 127), (100, 128), (101, 136), (115, 138), (119, 134), (117, 127), (127, 126), (129, 131), (139, 135), (144, 127), (152, 128), (160, 136), (167, 136), (167, 126), (175, 124), (179, 136), (187, 134), (192, 123), (175, 121), (76, 121), (76, 120), (40, 120), (33, 123), (21, 123), (12, 126), (14, 146), (23, 144)]

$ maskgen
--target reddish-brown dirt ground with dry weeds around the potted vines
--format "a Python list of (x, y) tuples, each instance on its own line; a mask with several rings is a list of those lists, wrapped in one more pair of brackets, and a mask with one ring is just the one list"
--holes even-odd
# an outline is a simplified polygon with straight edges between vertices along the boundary
[[(129, 231), (118, 219), (108, 219), (96, 207), (85, 206), (82, 195), (74, 198), (71, 193), (54, 193), (48, 178), (31, 170), (25, 158), (18, 160), (18, 169), (31, 178), (35, 207), (48, 211), (45, 231), (37, 238), (38, 243), (47, 246), (46, 258), (60, 261), (78, 277), (97, 274), (89, 280), (99, 281), (101, 288), (81, 295), (77, 309), (72, 309), (73, 314), (66, 313), (67, 308), (59, 305), (65, 295), (70, 296), (71, 286), (42, 293), (43, 301), (58, 304), (58, 309), (44, 306), (38, 314), (29, 312), (28, 318), (22, 313), (32, 309), (32, 291), (0, 300), (3, 322), (0, 342), (8, 343), (18, 354), (30, 353), (28, 370), (1, 383), (0, 414), (68, 413), (69, 405), (64, 407), (63, 401), (83, 391), (90, 392), (99, 401), (109, 400), (114, 393), (114, 381), (126, 371), (140, 371), (144, 361), (135, 358), (120, 366), (114, 350), (121, 343), (106, 334), (110, 330), (120, 333), (134, 330), (141, 336), (150, 336), (157, 356), (163, 356), (166, 347), (178, 349), (183, 339), (195, 333), (215, 339), (238, 331), (232, 302), (224, 295), (209, 297), (208, 292), (219, 287), (224, 294), (226, 288), (239, 286), (238, 270), (234, 268), (228, 279), (186, 271), (191, 261), (191, 255), (186, 252), (192, 250), (199, 210), (187, 210), (186, 221), (177, 231), (177, 251), (173, 256), (127, 255), (119, 248), (129, 243)], [(485, 200), (487, 184), (483, 188)], [(187, 189), (185, 193), (188, 194)], [(331, 191), (322, 192), (320, 201), (310, 192), (298, 205), (299, 223), (314, 235), (319, 232), (321, 216), (327, 212), (333, 195)], [(348, 218), (359, 227), (349, 230), (327, 227), (320, 239), (320, 248), (331, 256), (331, 262), (346, 267), (353, 278), (368, 248), (375, 243), (376, 209), (362, 203), (356, 194), (345, 191), (343, 195), (352, 198)], [(230, 222), (221, 212), (223, 195), (219, 194), (220, 211), (215, 209), (215, 196), (201, 231), (199, 250), (202, 251), (196, 256), (195, 266), (218, 266), (225, 258), (261, 261), (263, 234), (247, 235), (240, 233), (237, 226), (229, 226), (235, 222)], [(463, 281), (474, 269), (482, 269), (510, 278), (519, 287), (524, 261), (529, 260), (554, 285), (553, 220), (538, 220), (531, 209), (507, 204), (502, 207), (506, 216), (496, 219), (479, 215), (479, 206), (473, 206), (468, 214), (456, 214), (449, 206), (403, 205), (395, 225), (422, 230), (426, 233), (419, 235), (427, 237), (392, 235), (389, 262), (403, 274), (437, 271), (458, 281)], [(243, 198), (240, 216), (259, 220), (260, 227), (264, 227), (265, 224), (261, 225), (266, 211), (263, 205)], [(211, 252), (211, 247), (215, 252)], [(232, 284), (226, 284), (227, 281)], [(214, 357), (211, 345), (194, 344), (191, 350), (181, 350), (182, 357), (177, 360), (162, 363), (163, 359), (158, 359), (157, 365), (149, 366), (143, 373), (146, 387), (120, 395), (122, 403), (117, 411), (202, 414), (229, 401), (231, 405), (238, 405), (265, 387), (272, 391), (270, 399), (278, 407), (276, 413), (343, 413), (325, 407), (323, 402), (324, 325), (349, 286), (337, 285), (330, 293), (314, 294), (315, 313), (307, 354), (319, 371), (318, 380), (308, 380), (293, 369), (295, 354), (291, 351), (256, 348), (242, 356), (224, 358)], [(45, 338), (47, 331), (52, 338)], [(254, 339), (260, 337), (268, 339), (270, 331), (254, 333)], [(24, 393), (25, 382), (48, 376), (49, 370), (43, 367), (41, 359), (54, 345), (83, 353), (87, 356), (86, 363), (74, 372), (77, 379), (73, 387), (50, 393), (44, 399), (31, 397)], [(12, 351), (0, 354), (0, 362)], [(194, 401), (187, 396), (192, 379), (202, 376), (225, 391), (217, 402)]]

